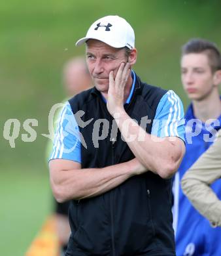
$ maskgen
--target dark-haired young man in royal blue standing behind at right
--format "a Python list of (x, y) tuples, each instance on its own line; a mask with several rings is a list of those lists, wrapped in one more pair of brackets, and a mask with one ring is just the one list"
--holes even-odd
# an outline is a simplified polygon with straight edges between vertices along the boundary
[[(173, 219), (177, 256), (221, 255), (221, 229), (212, 228), (183, 194), (180, 181), (184, 173), (211, 146), (220, 129), (221, 59), (216, 45), (192, 39), (182, 48), (181, 78), (192, 101), (186, 111), (186, 154), (175, 175)], [(221, 181), (212, 185), (221, 198)]]

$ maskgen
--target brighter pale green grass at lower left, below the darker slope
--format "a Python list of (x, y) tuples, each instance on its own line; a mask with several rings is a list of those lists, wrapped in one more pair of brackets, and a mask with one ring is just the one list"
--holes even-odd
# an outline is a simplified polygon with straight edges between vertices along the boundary
[(5, 170), (0, 202), (1, 255), (24, 255), (52, 209), (47, 173)]

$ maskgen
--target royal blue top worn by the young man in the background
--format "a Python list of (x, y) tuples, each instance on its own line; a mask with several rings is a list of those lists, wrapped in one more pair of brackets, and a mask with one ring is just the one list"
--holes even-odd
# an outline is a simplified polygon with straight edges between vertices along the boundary
[[(211, 125), (207, 125), (207, 123), (202, 123), (196, 119), (192, 105), (190, 105), (185, 117), (186, 154), (175, 175), (173, 186), (173, 226), (177, 256), (220, 256), (221, 228), (212, 228), (209, 221), (196, 211), (183, 194), (180, 181), (184, 173), (213, 143), (216, 130), (220, 129), (221, 116), (215, 119)], [(214, 182), (211, 187), (221, 199), (221, 180)]]

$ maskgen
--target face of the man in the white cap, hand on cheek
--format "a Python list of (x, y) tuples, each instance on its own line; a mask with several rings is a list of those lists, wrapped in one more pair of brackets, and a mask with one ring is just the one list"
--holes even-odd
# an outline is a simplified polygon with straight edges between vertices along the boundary
[(90, 39), (86, 47), (86, 62), (95, 87), (102, 93), (109, 89), (109, 73), (114, 78), (122, 62), (127, 62), (125, 49), (116, 49), (106, 43)]

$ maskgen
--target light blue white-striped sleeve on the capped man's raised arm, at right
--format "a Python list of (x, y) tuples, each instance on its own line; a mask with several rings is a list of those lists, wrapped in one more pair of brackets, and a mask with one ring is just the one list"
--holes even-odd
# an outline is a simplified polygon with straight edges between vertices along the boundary
[(184, 140), (184, 123), (184, 109), (179, 96), (174, 91), (167, 91), (156, 109), (151, 134), (161, 138), (175, 136)]

